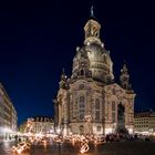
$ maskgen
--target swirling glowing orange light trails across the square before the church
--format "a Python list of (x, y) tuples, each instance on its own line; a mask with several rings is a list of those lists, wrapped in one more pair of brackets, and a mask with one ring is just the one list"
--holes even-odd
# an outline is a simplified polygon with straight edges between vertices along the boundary
[[(85, 121), (86, 123), (91, 123), (91, 116), (87, 115), (85, 116)], [(46, 148), (48, 142), (50, 140), (52, 140), (55, 143), (64, 143), (65, 141), (72, 143), (72, 145), (76, 145), (80, 146), (80, 153), (84, 154), (86, 152), (89, 152), (90, 146), (89, 143), (93, 142), (94, 145), (100, 144), (102, 141), (102, 138), (97, 135), (93, 135), (93, 134), (89, 134), (86, 136), (84, 135), (79, 135), (79, 134), (72, 134), (70, 133), (70, 135), (56, 135), (56, 134), (43, 134), (43, 133), (33, 133), (33, 123), (29, 120), (24, 130), (24, 136), (27, 136), (27, 142), (23, 141), (21, 143), (19, 143), (17, 146), (12, 147), (12, 152), (13, 153), (18, 153), (21, 154), (22, 152), (24, 152), (25, 149), (30, 149), (32, 144), (42, 144), (44, 146), (44, 148)], [(56, 132), (61, 132), (61, 130), (59, 128), (59, 131)], [(22, 136), (22, 135), (21, 135)]]

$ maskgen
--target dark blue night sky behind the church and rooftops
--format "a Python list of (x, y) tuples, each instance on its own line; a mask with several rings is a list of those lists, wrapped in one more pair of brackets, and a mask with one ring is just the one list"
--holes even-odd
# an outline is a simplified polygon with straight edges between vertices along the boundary
[(155, 110), (155, 10), (140, 0), (6, 1), (0, 4), (0, 82), (19, 123), (53, 116), (60, 74), (71, 75), (72, 60), (84, 40), (83, 27), (94, 4), (101, 38), (118, 80), (124, 60), (137, 94), (135, 110)]

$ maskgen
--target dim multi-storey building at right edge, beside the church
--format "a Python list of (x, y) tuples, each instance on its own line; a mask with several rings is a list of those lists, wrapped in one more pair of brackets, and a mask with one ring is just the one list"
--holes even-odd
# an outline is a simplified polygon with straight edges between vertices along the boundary
[(154, 134), (155, 132), (155, 112), (145, 111), (135, 113), (134, 115), (134, 131), (142, 134)]

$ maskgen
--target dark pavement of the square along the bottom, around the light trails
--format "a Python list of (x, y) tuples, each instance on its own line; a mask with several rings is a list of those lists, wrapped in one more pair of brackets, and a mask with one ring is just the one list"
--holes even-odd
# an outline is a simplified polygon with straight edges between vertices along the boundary
[[(13, 142), (0, 143), (0, 155), (18, 155), (12, 153)], [(32, 145), (21, 155), (81, 155), (76, 146), (71, 144)], [(155, 155), (155, 142), (117, 142), (102, 145), (90, 145), (84, 155)]]

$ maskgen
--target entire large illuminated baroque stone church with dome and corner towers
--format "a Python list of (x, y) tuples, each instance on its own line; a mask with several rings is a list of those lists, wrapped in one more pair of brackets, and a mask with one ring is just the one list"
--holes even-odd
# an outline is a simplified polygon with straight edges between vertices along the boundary
[[(93, 12), (91, 13), (93, 14)], [(72, 75), (61, 75), (54, 100), (55, 126), (62, 134), (86, 134), (85, 115), (91, 115), (92, 133), (133, 131), (135, 93), (126, 64), (120, 82), (114, 82), (113, 62), (100, 39), (101, 24), (91, 16), (84, 27), (85, 40), (76, 48)]]

